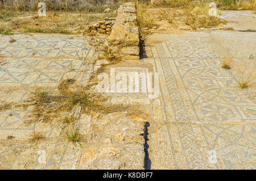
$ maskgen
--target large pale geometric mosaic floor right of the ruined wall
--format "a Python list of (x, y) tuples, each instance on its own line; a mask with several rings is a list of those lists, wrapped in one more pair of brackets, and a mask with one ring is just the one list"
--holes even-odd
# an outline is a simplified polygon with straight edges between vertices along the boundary
[[(234, 61), (255, 57), (256, 34), (187, 32), (154, 35), (147, 47), (160, 78), (160, 104), (148, 127), (151, 169), (255, 169), (256, 103), (229, 70), (221, 50)], [(255, 60), (254, 60), (255, 66)]]

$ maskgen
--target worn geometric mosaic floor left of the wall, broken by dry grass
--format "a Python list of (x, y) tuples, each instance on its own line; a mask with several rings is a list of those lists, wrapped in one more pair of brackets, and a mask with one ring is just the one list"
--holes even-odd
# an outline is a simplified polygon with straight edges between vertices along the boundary
[[(0, 103), (22, 103), (35, 87), (55, 87), (65, 78), (86, 85), (93, 72), (94, 50), (83, 36), (14, 35), (0, 36)], [(69, 141), (55, 141), (60, 123), (26, 124), (29, 111), (0, 110), (0, 169), (75, 169), (79, 147)], [(23, 141), (32, 132), (46, 137), (36, 146)], [(14, 136), (10, 145), (7, 136)], [(34, 147), (34, 149), (33, 149)], [(38, 163), (38, 151), (46, 151), (47, 163)]]

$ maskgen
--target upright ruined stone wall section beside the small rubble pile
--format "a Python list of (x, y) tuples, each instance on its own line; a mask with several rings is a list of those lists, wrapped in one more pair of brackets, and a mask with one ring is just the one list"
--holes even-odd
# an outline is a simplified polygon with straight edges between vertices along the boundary
[(127, 2), (119, 7), (108, 44), (114, 57), (122, 57), (123, 60), (139, 59), (139, 28), (135, 3)]

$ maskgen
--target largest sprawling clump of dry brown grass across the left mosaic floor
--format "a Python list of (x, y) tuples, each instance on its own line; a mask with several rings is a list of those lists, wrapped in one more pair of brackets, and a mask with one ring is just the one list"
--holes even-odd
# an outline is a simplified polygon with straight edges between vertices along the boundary
[[(82, 112), (86, 114), (91, 113), (112, 113), (119, 110), (125, 110), (122, 105), (108, 105), (106, 104), (107, 97), (100, 93), (90, 91), (92, 85), (86, 87), (76, 85), (70, 87), (71, 83), (75, 82), (73, 79), (67, 79), (60, 83), (57, 91), (37, 88), (31, 94), (30, 100), (27, 100), (33, 106), (32, 116), (27, 120), (27, 123), (34, 123), (35, 121), (51, 122), (53, 119), (63, 122), (60, 117), (61, 112), (70, 112), (75, 106), (80, 106)], [(69, 119), (70, 120), (70, 119)], [(67, 118), (65, 121), (68, 121)]]

